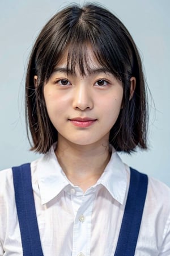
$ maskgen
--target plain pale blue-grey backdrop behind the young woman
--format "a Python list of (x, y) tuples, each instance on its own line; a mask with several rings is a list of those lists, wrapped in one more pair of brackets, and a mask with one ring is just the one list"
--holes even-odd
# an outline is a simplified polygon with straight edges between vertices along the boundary
[[(84, 1), (74, 1), (82, 4)], [(93, 1), (88, 1), (93, 2)], [(150, 98), (149, 150), (121, 154), (124, 162), (170, 186), (170, 1), (97, 1), (118, 16), (141, 53)], [(24, 120), (24, 78), (33, 42), (42, 26), (71, 1), (0, 2), (0, 170), (40, 156), (29, 151)]]

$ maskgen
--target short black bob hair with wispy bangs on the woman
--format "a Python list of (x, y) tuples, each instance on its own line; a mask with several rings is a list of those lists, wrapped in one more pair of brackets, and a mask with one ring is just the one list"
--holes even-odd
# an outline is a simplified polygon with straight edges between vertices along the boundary
[[(83, 7), (72, 4), (59, 11), (42, 28), (33, 46), (25, 82), (32, 150), (46, 153), (57, 141), (57, 131), (46, 111), (45, 82), (66, 51), (67, 68), (74, 72), (78, 65), (80, 73), (86, 75), (89, 45), (101, 67), (122, 81), (124, 88), (123, 108), (111, 129), (109, 143), (117, 151), (128, 153), (137, 146), (147, 148), (147, 93), (138, 49), (120, 19), (105, 7), (90, 3)], [(35, 75), (38, 77), (36, 88)], [(129, 100), (132, 76), (136, 79), (136, 87)]]

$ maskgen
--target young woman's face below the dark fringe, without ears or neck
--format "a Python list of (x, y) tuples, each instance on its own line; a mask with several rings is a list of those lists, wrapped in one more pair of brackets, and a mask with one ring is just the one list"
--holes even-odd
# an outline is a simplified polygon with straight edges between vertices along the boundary
[(91, 72), (66, 72), (67, 56), (44, 85), (46, 109), (58, 131), (58, 143), (106, 144), (122, 106), (123, 88), (88, 52)]

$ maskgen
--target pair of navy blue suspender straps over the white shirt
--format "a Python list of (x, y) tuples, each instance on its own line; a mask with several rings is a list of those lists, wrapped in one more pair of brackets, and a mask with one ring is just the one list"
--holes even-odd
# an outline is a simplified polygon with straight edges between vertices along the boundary
[[(12, 167), (12, 172), (23, 255), (43, 256), (33, 199), (30, 164)], [(135, 254), (147, 183), (147, 175), (130, 168), (128, 198), (114, 256), (134, 256)]]

